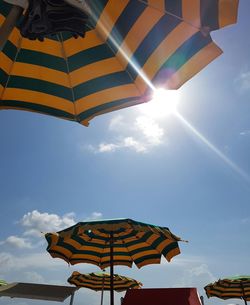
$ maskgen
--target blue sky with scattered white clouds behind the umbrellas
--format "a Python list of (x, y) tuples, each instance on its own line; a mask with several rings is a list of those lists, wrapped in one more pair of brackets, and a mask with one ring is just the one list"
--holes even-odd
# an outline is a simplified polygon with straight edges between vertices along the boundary
[[(250, 273), (249, 11), (241, 0), (237, 25), (212, 34), (224, 53), (179, 90), (179, 115), (152, 117), (139, 106), (86, 128), (0, 112), (1, 279), (65, 285), (74, 270), (98, 271), (52, 259), (40, 232), (119, 217), (189, 240), (171, 263), (115, 268), (145, 288), (197, 287), (204, 295), (211, 281)], [(99, 301), (100, 293), (82, 289), (74, 304)], [(0, 298), (31, 303), (44, 304)], [(236, 303), (205, 297), (207, 305)]]

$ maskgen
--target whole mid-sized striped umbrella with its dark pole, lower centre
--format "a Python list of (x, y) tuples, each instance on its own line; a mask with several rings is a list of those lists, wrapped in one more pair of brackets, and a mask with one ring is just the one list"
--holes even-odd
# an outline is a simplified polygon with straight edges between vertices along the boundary
[(181, 240), (166, 227), (113, 219), (79, 222), (57, 233), (47, 233), (47, 251), (67, 263), (90, 263), (101, 269), (110, 267), (110, 302), (114, 304), (114, 265), (138, 268), (159, 264), (161, 257), (170, 261), (180, 253)]

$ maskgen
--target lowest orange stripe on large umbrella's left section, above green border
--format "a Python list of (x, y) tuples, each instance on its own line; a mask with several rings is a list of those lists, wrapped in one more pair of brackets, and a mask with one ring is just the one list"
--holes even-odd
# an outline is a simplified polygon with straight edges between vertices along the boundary
[[(74, 115), (74, 105), (66, 99), (59, 98), (46, 93), (25, 89), (6, 88), (2, 97), (3, 100), (19, 100), (22, 102), (42, 105), (66, 111)], [(58, 107), (59, 106), (59, 107)]]

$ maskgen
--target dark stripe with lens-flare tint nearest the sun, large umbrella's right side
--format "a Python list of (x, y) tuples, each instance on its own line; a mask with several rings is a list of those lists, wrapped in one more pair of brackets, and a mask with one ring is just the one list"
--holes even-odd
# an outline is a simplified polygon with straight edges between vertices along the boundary
[(162, 65), (152, 81), (154, 85), (165, 84), (167, 78), (171, 77), (172, 74), (178, 71), (191, 57), (211, 43), (211, 41), (210, 36), (205, 37), (200, 32), (194, 34)]

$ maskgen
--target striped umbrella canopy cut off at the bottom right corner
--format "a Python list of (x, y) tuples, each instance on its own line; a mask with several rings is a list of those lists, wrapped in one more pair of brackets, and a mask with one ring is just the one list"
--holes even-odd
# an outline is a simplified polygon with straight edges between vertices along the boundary
[(220, 279), (204, 287), (208, 297), (220, 299), (243, 299), (250, 301), (250, 275), (239, 275)]

